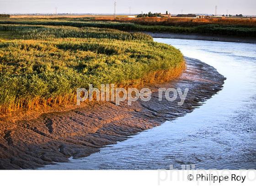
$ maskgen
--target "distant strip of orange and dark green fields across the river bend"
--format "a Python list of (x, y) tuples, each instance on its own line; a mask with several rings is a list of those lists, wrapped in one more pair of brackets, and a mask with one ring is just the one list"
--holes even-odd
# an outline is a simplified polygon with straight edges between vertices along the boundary
[(99, 27), (121, 31), (149, 31), (207, 36), (256, 37), (256, 19), (188, 19), (128, 17), (51, 17), (1, 19), (0, 24)]

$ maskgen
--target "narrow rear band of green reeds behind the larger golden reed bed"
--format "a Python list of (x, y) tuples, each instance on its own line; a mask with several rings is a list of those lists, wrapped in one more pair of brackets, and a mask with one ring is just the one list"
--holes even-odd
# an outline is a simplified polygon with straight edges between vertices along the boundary
[(29, 26), (29, 25), (0, 25), (0, 31), (7, 31), (19, 39), (49, 39), (49, 38), (108, 38), (117, 40), (152, 40), (151, 36), (143, 33), (129, 33), (112, 29), (76, 28), (71, 26)]

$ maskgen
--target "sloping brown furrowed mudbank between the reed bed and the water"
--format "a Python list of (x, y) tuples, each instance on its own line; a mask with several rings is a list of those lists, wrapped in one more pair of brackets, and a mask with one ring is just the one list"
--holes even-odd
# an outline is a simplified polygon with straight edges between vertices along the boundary
[[(192, 112), (200, 102), (222, 89), (225, 78), (196, 59), (186, 58), (187, 70), (168, 83), (146, 85), (153, 92), (148, 102), (120, 106), (93, 102), (86, 107), (49, 112), (35, 118), (0, 120), (0, 169), (28, 169), (69, 157), (89, 156), (105, 145), (117, 143), (143, 130)], [(158, 101), (158, 88), (189, 88), (182, 106)], [(179, 101), (179, 99), (178, 99)]]

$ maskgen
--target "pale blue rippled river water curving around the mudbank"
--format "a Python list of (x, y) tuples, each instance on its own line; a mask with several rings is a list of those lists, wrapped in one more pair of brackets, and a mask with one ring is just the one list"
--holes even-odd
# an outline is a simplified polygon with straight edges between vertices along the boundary
[(216, 68), (227, 78), (223, 90), (183, 117), (43, 169), (256, 169), (256, 44), (155, 41)]

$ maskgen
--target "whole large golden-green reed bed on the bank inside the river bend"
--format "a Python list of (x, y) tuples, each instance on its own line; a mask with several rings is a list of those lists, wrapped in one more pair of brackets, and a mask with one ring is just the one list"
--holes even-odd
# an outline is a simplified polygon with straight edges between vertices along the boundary
[[(0, 25), (1, 113), (72, 103), (76, 88), (89, 84), (129, 87), (171, 80), (184, 69), (179, 50), (145, 34), (87, 23), (72, 27), (80, 22), (43, 23)], [(42, 26), (47, 23), (60, 26)]]

